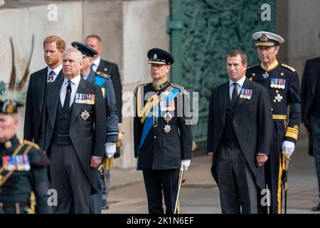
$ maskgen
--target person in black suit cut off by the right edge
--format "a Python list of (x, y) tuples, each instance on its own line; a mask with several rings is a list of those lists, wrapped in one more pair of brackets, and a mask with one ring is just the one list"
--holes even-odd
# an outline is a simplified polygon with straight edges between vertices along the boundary
[[(302, 77), (301, 100), (302, 123), (309, 133), (309, 155), (313, 155), (316, 162), (320, 198), (320, 57), (306, 61)], [(320, 202), (312, 207), (312, 210), (320, 211)]]

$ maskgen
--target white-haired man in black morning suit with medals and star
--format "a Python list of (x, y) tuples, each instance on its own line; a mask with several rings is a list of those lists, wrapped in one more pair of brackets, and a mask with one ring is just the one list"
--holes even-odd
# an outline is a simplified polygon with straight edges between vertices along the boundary
[(97, 192), (97, 166), (105, 152), (105, 101), (99, 86), (80, 76), (82, 54), (63, 53), (63, 75), (48, 85), (43, 108), (43, 148), (51, 161), (58, 213), (89, 213)]

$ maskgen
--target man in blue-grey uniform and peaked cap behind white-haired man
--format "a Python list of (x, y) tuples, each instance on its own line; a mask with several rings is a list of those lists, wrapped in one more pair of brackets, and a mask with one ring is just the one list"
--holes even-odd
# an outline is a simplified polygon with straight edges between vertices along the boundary
[[(115, 101), (114, 89), (112, 86), (112, 80), (110, 76), (105, 73), (100, 73), (92, 71), (92, 57), (97, 54), (97, 51), (86, 46), (83, 43), (73, 42), (71, 45), (74, 48), (78, 48), (82, 53), (82, 66), (81, 73), (83, 79), (91, 81), (97, 84), (102, 89), (102, 94), (105, 97), (105, 106), (107, 113), (107, 123), (106, 123), (106, 147), (105, 155), (108, 159), (112, 159), (114, 153), (116, 152), (116, 142), (118, 140), (118, 115), (117, 106)], [(90, 213), (91, 214), (101, 214), (102, 208), (102, 185), (105, 183), (100, 180), (100, 172), (97, 173), (97, 183), (98, 191), (96, 194), (90, 197)]]

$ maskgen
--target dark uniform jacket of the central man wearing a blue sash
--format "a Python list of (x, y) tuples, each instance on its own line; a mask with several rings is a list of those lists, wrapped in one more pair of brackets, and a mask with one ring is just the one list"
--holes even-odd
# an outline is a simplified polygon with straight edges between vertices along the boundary
[[(178, 101), (183, 103), (183, 100), (186, 100), (186, 95), (183, 88), (176, 86), (169, 81), (164, 84), (162, 88), (156, 90), (152, 83), (148, 83), (137, 88), (142, 88), (142, 103), (145, 105), (146, 100), (149, 96), (154, 95), (155, 93), (160, 95), (161, 92), (168, 90), (170, 87), (178, 88), (181, 93), (178, 93), (174, 99), (174, 111), (170, 111), (172, 118), (169, 123), (166, 123), (164, 120), (164, 113), (167, 111), (161, 112), (161, 117), (158, 118), (158, 126), (151, 127), (146, 140), (142, 145), (141, 149), (138, 152), (138, 146), (142, 137), (142, 130), (144, 124), (141, 122), (140, 118), (134, 117), (134, 157), (138, 158), (139, 167), (147, 170), (170, 170), (170, 169), (179, 169), (181, 166), (181, 160), (191, 159), (191, 148), (192, 148), (192, 133), (191, 125), (186, 124), (186, 112), (183, 110), (181, 116), (177, 116), (178, 111)], [(137, 98), (137, 88), (135, 90), (135, 95)], [(144, 98), (144, 95), (146, 95)], [(183, 104), (186, 105), (186, 103)], [(180, 108), (182, 108), (180, 106)], [(164, 126), (170, 125), (171, 130), (169, 133), (164, 132)]]

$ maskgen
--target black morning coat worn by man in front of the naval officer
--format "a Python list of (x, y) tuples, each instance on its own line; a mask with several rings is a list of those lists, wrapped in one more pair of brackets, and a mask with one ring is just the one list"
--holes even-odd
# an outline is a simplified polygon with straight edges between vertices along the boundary
[[(257, 167), (257, 153), (269, 155), (272, 138), (272, 112), (267, 90), (247, 78), (242, 88), (252, 89), (250, 100), (238, 98), (233, 117), (233, 128), (240, 149), (255, 177), (260, 189), (265, 188), (264, 167)], [(225, 127), (225, 110), (229, 95), (229, 81), (214, 88), (211, 92), (208, 120), (208, 152), (213, 152), (213, 177), (216, 176), (216, 157), (221, 136)]]

